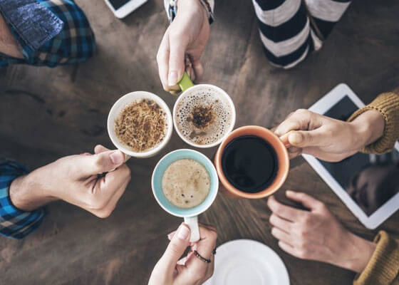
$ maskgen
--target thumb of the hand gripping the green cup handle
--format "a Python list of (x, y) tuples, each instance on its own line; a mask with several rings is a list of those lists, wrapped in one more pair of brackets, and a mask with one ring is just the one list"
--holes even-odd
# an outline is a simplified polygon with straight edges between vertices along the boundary
[(185, 72), (185, 44), (170, 38), (169, 74), (167, 84), (175, 86)]

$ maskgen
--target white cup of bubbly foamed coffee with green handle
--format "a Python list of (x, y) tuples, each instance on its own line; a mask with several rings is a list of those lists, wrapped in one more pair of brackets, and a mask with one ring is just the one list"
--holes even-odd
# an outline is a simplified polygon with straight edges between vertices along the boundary
[[(227, 94), (226, 91), (217, 86), (213, 86), (211, 84), (194, 85), (187, 73), (185, 73), (182, 80), (179, 82), (179, 86), (182, 89), (182, 94), (179, 96), (179, 98), (177, 98), (175, 106), (173, 107), (173, 125), (175, 126), (177, 135), (179, 135), (182, 140), (184, 140), (185, 142), (187, 142), (187, 144), (193, 147), (207, 148), (219, 145), (225, 138), (227, 138), (229, 133), (232, 132), (236, 121), (236, 110), (234, 108), (232, 98), (230, 98), (229, 94)], [(217, 113), (217, 116), (222, 115), (223, 118), (227, 119), (227, 121), (220, 124), (214, 123), (214, 126), (212, 126), (212, 130), (209, 130), (209, 128), (204, 129), (209, 133), (213, 133), (213, 135), (209, 135), (207, 139), (201, 138), (201, 135), (194, 135), (192, 139), (190, 139), (190, 135), (188, 134), (189, 129), (196, 128), (191, 127), (191, 123), (187, 122), (187, 128), (183, 130), (184, 128), (182, 127), (182, 125), (184, 125), (185, 122), (184, 120), (182, 120), (182, 118), (186, 118), (185, 115), (187, 115), (187, 112), (190, 112), (190, 110), (187, 111), (186, 109), (185, 111), (182, 110), (181, 107), (182, 105), (191, 105), (191, 108), (195, 108), (195, 104), (197, 104), (195, 103), (195, 100), (202, 100), (202, 98), (204, 99), (202, 101), (204, 105), (207, 105), (208, 103), (212, 104), (212, 101), (219, 100), (219, 108), (216, 108), (216, 110), (212, 111)], [(207, 100), (209, 101), (207, 102)], [(222, 105), (224, 105), (225, 110), (222, 110), (222, 107), (220, 107)], [(185, 112), (186, 114), (182, 114)], [(217, 120), (219, 119), (221, 118), (217, 118)], [(197, 130), (201, 131), (198, 128)], [(204, 142), (200, 140), (208, 140), (209, 142)]]

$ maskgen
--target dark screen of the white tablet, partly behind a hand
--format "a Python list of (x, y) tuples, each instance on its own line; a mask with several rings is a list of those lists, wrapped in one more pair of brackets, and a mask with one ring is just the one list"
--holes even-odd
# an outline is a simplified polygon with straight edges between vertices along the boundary
[[(347, 120), (358, 107), (344, 96), (324, 115)], [(370, 216), (399, 192), (399, 152), (366, 155), (361, 152), (341, 162), (318, 160), (363, 212)]]

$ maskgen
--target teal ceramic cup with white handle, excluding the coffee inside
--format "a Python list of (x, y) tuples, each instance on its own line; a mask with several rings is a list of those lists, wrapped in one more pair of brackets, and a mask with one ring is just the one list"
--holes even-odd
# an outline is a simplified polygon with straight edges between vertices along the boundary
[[(170, 164), (172, 164), (172, 162), (182, 159), (192, 159), (201, 163), (209, 174), (211, 184), (209, 194), (204, 199), (204, 202), (190, 209), (176, 207), (174, 204), (169, 202), (162, 191), (162, 177), (165, 170)], [(191, 230), (190, 242), (199, 241), (198, 215), (205, 212), (210, 207), (214, 202), (214, 199), (217, 196), (217, 190), (219, 189), (219, 178), (217, 177), (217, 172), (212, 161), (196, 150), (182, 149), (169, 152), (167, 155), (162, 157), (155, 166), (154, 172), (152, 172), (151, 185), (152, 193), (162, 209), (165, 209), (169, 214), (176, 217), (183, 217), (185, 219), (185, 223)]]

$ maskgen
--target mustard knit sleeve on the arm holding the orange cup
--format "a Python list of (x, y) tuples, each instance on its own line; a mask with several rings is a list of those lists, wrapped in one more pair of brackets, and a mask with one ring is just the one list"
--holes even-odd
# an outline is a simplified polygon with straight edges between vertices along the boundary
[(397, 93), (382, 93), (373, 102), (357, 110), (348, 119), (355, 120), (367, 110), (378, 110), (385, 120), (384, 133), (381, 138), (366, 145), (361, 152), (382, 154), (393, 149), (399, 140), (399, 95)]

